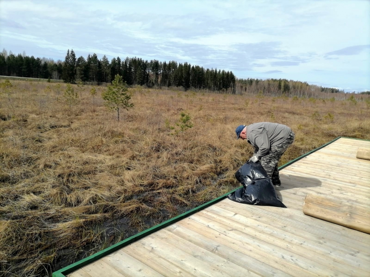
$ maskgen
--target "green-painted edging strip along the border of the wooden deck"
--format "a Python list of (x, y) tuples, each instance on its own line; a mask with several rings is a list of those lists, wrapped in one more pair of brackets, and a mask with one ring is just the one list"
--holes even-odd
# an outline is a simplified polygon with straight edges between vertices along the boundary
[[(334, 141), (338, 140), (339, 138), (351, 138), (351, 137), (337, 137), (337, 138), (334, 138), (334, 140), (329, 141), (328, 143), (323, 144), (322, 146), (320, 146), (318, 148), (315, 148), (315, 149), (307, 152), (306, 154), (303, 154), (302, 156), (299, 156), (299, 157), (295, 158), (294, 160), (289, 161), (286, 164), (283, 164), (282, 166), (279, 167), (279, 170), (287, 167), (288, 165), (290, 165), (292, 163), (295, 163), (296, 161), (298, 161), (298, 160), (306, 157), (307, 155), (309, 155), (309, 154), (311, 154), (311, 153), (313, 153), (313, 152), (315, 152), (317, 150), (320, 150), (321, 148), (329, 145), (330, 143), (333, 143)], [(351, 139), (354, 139), (354, 140), (366, 140), (366, 139), (362, 139), (362, 138), (351, 138)], [(370, 140), (366, 140), (366, 141), (370, 141)], [(238, 187), (238, 188), (241, 188), (241, 187)], [(202, 204), (202, 205), (200, 205), (200, 206), (198, 206), (198, 207), (196, 207), (194, 209), (191, 209), (190, 211), (187, 211), (185, 213), (182, 213), (181, 215), (178, 215), (178, 216), (176, 216), (174, 218), (168, 219), (165, 222), (162, 222), (162, 223), (160, 223), (158, 225), (155, 225), (155, 226), (153, 226), (153, 227), (151, 227), (151, 228), (149, 228), (147, 230), (144, 230), (144, 231), (142, 231), (142, 232), (140, 232), (140, 233), (138, 233), (138, 234), (136, 234), (134, 236), (128, 237), (127, 239), (122, 240), (121, 242), (118, 242), (116, 244), (113, 244), (113, 245), (107, 247), (106, 249), (103, 249), (103, 250), (101, 250), (101, 251), (99, 251), (99, 252), (97, 252), (95, 254), (92, 254), (91, 256), (88, 256), (88, 257), (86, 257), (86, 258), (84, 258), (84, 259), (82, 259), (80, 261), (77, 261), (77, 262), (75, 262), (73, 264), (70, 264), (69, 266), (66, 266), (66, 267), (64, 267), (64, 268), (62, 268), (62, 269), (60, 269), (58, 271), (55, 271), (55, 272), (53, 272), (52, 277), (66, 277), (64, 274), (70, 274), (73, 271), (75, 271), (77, 269), (80, 269), (81, 267), (86, 266), (87, 264), (92, 263), (93, 261), (96, 261), (96, 260), (98, 260), (98, 259), (100, 259), (100, 258), (102, 258), (104, 256), (107, 256), (108, 254), (111, 254), (111, 253), (117, 251), (118, 249), (121, 249), (122, 247), (127, 246), (128, 244), (131, 244), (131, 243), (133, 243), (133, 242), (135, 242), (135, 241), (137, 241), (139, 239), (142, 239), (143, 237), (148, 236), (151, 233), (157, 232), (158, 230), (160, 230), (162, 228), (165, 228), (165, 227), (167, 227), (167, 226), (169, 226), (171, 224), (174, 224), (174, 223), (178, 222), (179, 220), (182, 220), (182, 219), (184, 219), (184, 218), (186, 218), (188, 216), (191, 216), (192, 214), (194, 214), (196, 212), (199, 212), (202, 209), (205, 209), (208, 206), (211, 206), (211, 205), (213, 205), (213, 204), (221, 201), (222, 199), (226, 198), (226, 196), (228, 194), (231, 194), (232, 192), (236, 191), (238, 188), (235, 188), (232, 191), (230, 191), (230, 192), (228, 192), (228, 193), (226, 193), (226, 194), (224, 194), (222, 196), (219, 196), (216, 199), (213, 199), (213, 200), (211, 200), (211, 201), (209, 201), (209, 202), (207, 202), (205, 204)]]

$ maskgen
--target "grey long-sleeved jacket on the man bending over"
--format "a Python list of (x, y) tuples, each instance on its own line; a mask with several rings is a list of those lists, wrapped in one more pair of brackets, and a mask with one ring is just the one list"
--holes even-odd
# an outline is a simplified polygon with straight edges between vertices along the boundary
[(247, 126), (247, 141), (255, 148), (254, 154), (261, 159), (271, 146), (286, 140), (292, 130), (283, 124), (258, 122)]

